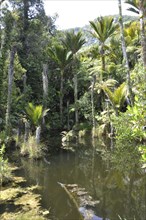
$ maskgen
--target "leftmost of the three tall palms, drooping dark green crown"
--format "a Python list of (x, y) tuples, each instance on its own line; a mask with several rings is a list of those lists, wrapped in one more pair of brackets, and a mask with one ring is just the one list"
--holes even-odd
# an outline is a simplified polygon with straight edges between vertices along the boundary
[(60, 123), (62, 125), (63, 122), (63, 78), (64, 78), (64, 71), (68, 64), (72, 60), (72, 53), (68, 51), (67, 48), (64, 48), (60, 45), (55, 45), (53, 48), (48, 48), (49, 56), (52, 60), (54, 60), (60, 69)]

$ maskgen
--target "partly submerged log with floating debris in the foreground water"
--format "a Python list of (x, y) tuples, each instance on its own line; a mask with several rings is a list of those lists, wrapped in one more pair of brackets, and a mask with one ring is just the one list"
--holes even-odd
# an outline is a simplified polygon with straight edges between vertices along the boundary
[(94, 213), (95, 206), (99, 201), (94, 201), (85, 191), (85, 188), (78, 187), (77, 184), (58, 184), (65, 190), (75, 207), (80, 213), (82, 220), (100, 220)]

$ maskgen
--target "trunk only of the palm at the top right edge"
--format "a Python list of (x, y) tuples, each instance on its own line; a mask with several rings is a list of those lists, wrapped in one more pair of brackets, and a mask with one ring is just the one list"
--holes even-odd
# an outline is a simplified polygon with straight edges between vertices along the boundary
[(144, 24), (145, 7), (143, 0), (139, 0), (139, 6), (140, 6), (139, 14), (140, 14), (142, 57), (143, 57), (143, 66), (146, 71), (146, 33), (145, 33), (145, 24)]

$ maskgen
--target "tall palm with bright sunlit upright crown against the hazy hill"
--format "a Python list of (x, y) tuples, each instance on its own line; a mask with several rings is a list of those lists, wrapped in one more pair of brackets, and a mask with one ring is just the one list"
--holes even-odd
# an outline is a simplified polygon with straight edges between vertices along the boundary
[[(93, 28), (94, 32), (91, 32), (93, 37), (97, 38), (100, 45), (100, 55), (101, 55), (101, 63), (102, 63), (102, 72), (105, 72), (105, 50), (106, 50), (106, 42), (112, 37), (118, 26), (114, 23), (114, 19), (112, 17), (98, 17), (97, 21), (90, 21), (90, 25)], [(103, 73), (101, 74), (101, 80), (103, 78)]]

